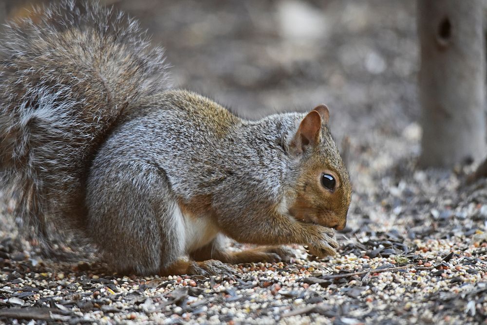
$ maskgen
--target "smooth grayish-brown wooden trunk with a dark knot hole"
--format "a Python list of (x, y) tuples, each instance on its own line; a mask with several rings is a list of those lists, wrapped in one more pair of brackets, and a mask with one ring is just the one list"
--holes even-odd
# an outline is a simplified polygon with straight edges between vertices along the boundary
[(487, 153), (483, 0), (417, 0), (417, 10), (420, 164), (478, 161)]

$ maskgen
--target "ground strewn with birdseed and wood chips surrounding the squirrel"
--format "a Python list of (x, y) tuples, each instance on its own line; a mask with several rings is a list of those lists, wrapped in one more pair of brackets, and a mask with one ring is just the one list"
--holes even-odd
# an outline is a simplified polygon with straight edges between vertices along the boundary
[(486, 323), (487, 181), (416, 166), (414, 1), (115, 2), (167, 47), (176, 84), (251, 117), (330, 107), (354, 186), (341, 246), (232, 276), (120, 276), (42, 259), (6, 209), (0, 323)]

